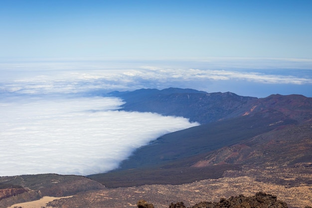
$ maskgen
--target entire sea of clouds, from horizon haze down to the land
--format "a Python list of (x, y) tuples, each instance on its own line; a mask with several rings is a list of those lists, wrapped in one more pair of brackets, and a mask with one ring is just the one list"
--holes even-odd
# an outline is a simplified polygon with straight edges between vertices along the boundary
[(0, 176), (107, 172), (157, 137), (199, 125), (122, 111), (123, 101), (107, 97), (110, 91), (180, 87), (258, 97), (311, 94), (311, 60), (239, 61), (1, 62)]

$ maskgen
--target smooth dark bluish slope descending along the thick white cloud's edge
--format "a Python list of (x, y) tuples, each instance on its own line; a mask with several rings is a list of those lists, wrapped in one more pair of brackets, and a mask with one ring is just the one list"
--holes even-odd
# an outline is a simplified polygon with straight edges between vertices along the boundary
[(122, 162), (121, 169), (148, 167), (181, 160), (271, 131), (296, 121), (272, 112), (274, 116), (254, 114), (214, 122), (163, 135), (150, 145), (139, 148)]

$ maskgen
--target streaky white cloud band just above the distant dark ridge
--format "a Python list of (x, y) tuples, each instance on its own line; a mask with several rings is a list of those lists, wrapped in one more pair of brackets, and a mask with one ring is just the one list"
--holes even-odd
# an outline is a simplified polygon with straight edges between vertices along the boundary
[(157, 86), (165, 88), (171, 87), (170, 83), (180, 85), (174, 87), (183, 88), (183, 82), (204, 80), (247, 80), (264, 84), (312, 84), (312, 77), (300, 76), (300, 72), (296, 76), (294, 73), (293, 71), (291, 75), (268, 74), (266, 71), (246, 72), (209, 69), (62, 71), (57, 74), (23, 77), (2, 83), (0, 92), (18, 94), (84, 93), (95, 90), (133, 90)]

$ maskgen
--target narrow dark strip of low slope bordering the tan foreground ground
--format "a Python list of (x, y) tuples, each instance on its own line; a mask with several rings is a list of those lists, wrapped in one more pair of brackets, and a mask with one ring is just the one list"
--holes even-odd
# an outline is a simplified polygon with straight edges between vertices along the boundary
[(185, 184), (204, 179), (222, 178), (227, 170), (240, 170), (240, 166), (220, 165), (203, 168), (156, 167), (151, 169), (130, 169), (107, 174), (89, 176), (107, 188), (133, 187), (151, 184)]

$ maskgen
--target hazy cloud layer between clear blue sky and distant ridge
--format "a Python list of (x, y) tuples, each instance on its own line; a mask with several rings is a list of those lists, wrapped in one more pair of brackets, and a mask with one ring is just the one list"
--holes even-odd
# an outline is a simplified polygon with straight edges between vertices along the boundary
[[(308, 91), (301, 92), (312, 85), (310, 59), (43, 61), (2, 63), (0, 68), (4, 75), (2, 79), (5, 78), (0, 78), (2, 93), (94, 95), (113, 90), (180, 87), (208, 92), (231, 91), (256, 97), (277, 93), (312, 96)], [(240, 88), (236, 87), (239, 85)], [(246, 91), (259, 85), (272, 89), (262, 94), (257, 94), (257, 90)], [(294, 90), (289, 91), (290, 88), (284, 85), (292, 86)]]

